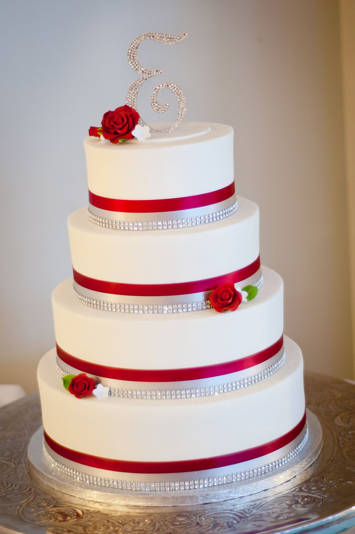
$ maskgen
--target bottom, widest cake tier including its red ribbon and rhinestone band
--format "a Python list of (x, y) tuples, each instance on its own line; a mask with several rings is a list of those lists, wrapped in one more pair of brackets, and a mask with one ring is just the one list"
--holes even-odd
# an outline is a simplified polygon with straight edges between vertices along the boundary
[(181, 490), (252, 478), (307, 440), (303, 359), (284, 338), (283, 366), (251, 386), (205, 397), (76, 398), (38, 366), (45, 456), (68, 476), (121, 489)]

